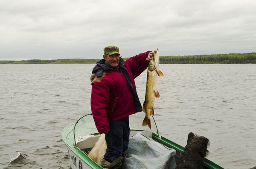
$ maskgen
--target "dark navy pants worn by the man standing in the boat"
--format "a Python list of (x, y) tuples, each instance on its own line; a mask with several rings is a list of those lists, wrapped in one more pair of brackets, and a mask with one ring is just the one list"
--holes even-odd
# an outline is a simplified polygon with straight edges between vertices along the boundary
[(109, 129), (110, 131), (105, 135), (108, 148), (104, 159), (112, 163), (128, 149), (130, 137), (129, 116), (109, 122)]

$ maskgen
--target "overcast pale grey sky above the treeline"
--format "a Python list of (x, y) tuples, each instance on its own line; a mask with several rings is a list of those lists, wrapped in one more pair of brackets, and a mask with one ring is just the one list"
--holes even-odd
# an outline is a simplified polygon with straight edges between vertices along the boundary
[(0, 60), (256, 52), (255, 0), (0, 0)]

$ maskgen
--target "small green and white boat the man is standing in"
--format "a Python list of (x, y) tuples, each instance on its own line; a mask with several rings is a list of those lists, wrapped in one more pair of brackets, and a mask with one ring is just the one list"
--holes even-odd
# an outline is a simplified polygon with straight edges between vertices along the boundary
[[(130, 137), (137, 133), (141, 133), (157, 144), (161, 144), (169, 149), (174, 149), (176, 152), (174, 158), (175, 161), (177, 161), (180, 158), (184, 147), (160, 136), (153, 116), (151, 116), (151, 121), (153, 121), (153, 124), (155, 125), (156, 131), (154, 132), (149, 129), (142, 130), (139, 127), (131, 126), (130, 123)], [(72, 169), (103, 169), (87, 155), (88, 151), (93, 148), (100, 137), (100, 134), (94, 124), (92, 114), (84, 115), (79, 118), (76, 123), (65, 127), (61, 136), (64, 144), (67, 146)], [(206, 169), (223, 169), (221, 166), (218, 166), (207, 158), (204, 158), (204, 166)]]

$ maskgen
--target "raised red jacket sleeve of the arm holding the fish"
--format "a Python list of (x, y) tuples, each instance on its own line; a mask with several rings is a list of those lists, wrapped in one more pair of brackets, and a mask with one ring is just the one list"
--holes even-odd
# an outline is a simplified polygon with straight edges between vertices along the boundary
[(147, 61), (146, 58), (148, 57), (149, 52), (151, 51), (138, 54), (126, 60), (125, 65), (131, 69), (134, 79), (148, 68), (149, 61)]

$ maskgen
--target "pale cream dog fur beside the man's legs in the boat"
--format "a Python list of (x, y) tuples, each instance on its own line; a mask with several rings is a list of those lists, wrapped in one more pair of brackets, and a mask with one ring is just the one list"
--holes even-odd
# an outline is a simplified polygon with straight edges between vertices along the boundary
[(104, 158), (104, 155), (106, 153), (107, 144), (105, 141), (105, 134), (102, 134), (99, 137), (99, 140), (96, 142), (95, 146), (91, 151), (88, 153), (88, 156), (95, 161), (97, 164), (102, 166), (102, 159)]

